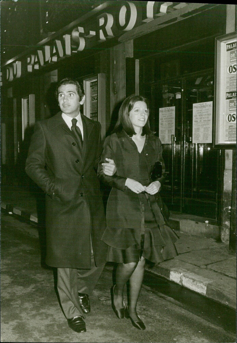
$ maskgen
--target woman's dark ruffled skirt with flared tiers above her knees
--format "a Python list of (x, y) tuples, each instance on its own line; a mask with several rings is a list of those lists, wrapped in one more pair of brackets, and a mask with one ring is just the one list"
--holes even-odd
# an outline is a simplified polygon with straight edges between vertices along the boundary
[(109, 246), (108, 262), (138, 262), (143, 256), (159, 263), (178, 255), (174, 243), (179, 237), (166, 225), (159, 206), (150, 198), (148, 194), (139, 194), (140, 228), (107, 226), (105, 229), (101, 240)]

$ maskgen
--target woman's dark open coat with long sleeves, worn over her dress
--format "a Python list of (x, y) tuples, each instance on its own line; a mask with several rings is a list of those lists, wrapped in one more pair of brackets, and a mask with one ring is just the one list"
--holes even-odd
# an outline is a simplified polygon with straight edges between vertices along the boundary
[[(163, 184), (165, 179), (165, 165), (162, 157), (160, 139), (153, 134), (147, 135), (144, 153), (149, 176), (151, 175), (155, 163), (158, 161), (162, 163), (162, 176), (157, 178), (157, 180)], [(107, 176), (103, 173), (102, 163), (106, 162), (106, 157), (113, 159), (116, 164), (117, 171), (113, 176)], [(139, 230), (142, 225), (142, 211), (139, 196), (125, 186), (127, 178), (136, 181), (139, 180), (139, 153), (136, 144), (125, 131), (113, 133), (105, 139), (104, 150), (98, 165), (98, 176), (105, 184), (112, 187), (106, 209), (107, 228), (130, 228)], [(152, 182), (151, 179), (148, 181)], [(157, 211), (158, 205), (165, 218), (162, 199), (160, 198), (159, 193), (155, 195), (149, 194), (149, 199), (153, 213), (159, 222), (159, 214)], [(166, 219), (167, 218), (165, 218), (165, 220)], [(113, 230), (107, 230), (106, 232), (108, 235), (111, 235)], [(126, 239), (129, 240), (128, 237)], [(137, 243), (140, 243), (140, 234), (137, 239)], [(109, 237), (109, 240), (112, 242), (113, 237)], [(125, 249), (131, 244), (132, 242), (129, 241), (111, 243), (112, 246), (118, 249)]]

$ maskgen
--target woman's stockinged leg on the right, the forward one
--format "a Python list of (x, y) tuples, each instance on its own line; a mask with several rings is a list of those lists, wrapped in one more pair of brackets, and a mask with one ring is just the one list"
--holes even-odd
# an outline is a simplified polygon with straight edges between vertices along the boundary
[(130, 317), (136, 322), (139, 321), (137, 316), (137, 301), (141, 291), (142, 281), (145, 271), (145, 258), (141, 257), (141, 260), (138, 262), (136, 269), (129, 279), (129, 297), (128, 297), (128, 311)]

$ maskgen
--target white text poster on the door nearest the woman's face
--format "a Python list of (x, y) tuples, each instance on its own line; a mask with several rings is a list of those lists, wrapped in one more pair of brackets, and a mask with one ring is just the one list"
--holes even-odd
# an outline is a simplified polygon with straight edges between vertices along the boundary
[(159, 138), (162, 144), (171, 144), (175, 134), (175, 106), (159, 109)]

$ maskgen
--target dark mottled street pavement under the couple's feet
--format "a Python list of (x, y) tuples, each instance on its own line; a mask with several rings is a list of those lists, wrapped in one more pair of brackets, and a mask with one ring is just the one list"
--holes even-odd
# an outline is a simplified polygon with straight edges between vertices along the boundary
[(2, 214), (1, 342), (235, 342), (235, 335), (142, 287), (135, 329), (111, 309), (112, 266), (106, 265), (91, 296), (87, 332), (67, 326), (55, 293), (53, 269), (41, 267), (39, 240), (30, 225)]

